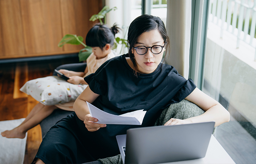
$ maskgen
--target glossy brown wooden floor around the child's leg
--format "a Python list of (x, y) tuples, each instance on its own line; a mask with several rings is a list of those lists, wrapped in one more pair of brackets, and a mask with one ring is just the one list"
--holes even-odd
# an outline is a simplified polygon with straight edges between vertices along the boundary
[[(0, 63), (0, 121), (25, 118), (38, 102), (19, 91), (28, 80), (51, 76), (53, 70), (78, 58)], [(40, 125), (28, 131), (24, 164), (31, 163), (42, 141)]]

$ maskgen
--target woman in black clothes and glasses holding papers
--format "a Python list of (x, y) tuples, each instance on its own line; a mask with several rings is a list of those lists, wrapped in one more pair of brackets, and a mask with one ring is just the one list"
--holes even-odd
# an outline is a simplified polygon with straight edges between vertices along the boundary
[[(75, 114), (56, 123), (46, 134), (36, 163), (85, 163), (117, 155), (116, 135), (126, 134), (129, 128), (154, 125), (162, 109), (183, 99), (205, 113), (186, 120), (170, 119), (165, 125), (215, 121), (218, 126), (229, 121), (229, 113), (221, 104), (172, 66), (160, 63), (169, 38), (159, 17), (142, 15), (133, 20), (128, 45), (129, 54), (106, 61), (85, 77), (89, 87), (76, 99)], [(86, 101), (115, 115), (139, 109), (147, 112), (142, 125), (97, 124)]]

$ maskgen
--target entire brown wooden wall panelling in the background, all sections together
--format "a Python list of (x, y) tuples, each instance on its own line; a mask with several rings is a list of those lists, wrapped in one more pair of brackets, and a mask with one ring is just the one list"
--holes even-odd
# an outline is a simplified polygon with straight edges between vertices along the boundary
[(68, 33), (85, 39), (101, 9), (102, 0), (0, 0), (0, 60), (77, 53), (82, 45), (59, 41)]

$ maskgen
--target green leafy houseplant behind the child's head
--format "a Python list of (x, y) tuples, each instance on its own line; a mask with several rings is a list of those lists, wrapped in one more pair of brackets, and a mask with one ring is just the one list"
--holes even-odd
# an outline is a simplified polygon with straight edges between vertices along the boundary
[[(106, 23), (106, 14), (109, 13), (111, 10), (116, 10), (116, 7), (109, 8), (109, 6), (104, 6), (104, 8), (98, 13), (91, 16), (89, 19), (90, 21), (95, 21), (99, 19), (100, 24), (103, 24), (102, 20), (104, 18), (104, 23)], [(58, 44), (58, 47), (62, 47), (65, 44), (72, 44), (72, 45), (80, 45), (82, 44), (85, 48), (81, 49), (78, 53), (79, 61), (85, 61), (89, 55), (92, 53), (92, 48), (90, 46), (87, 46), (83, 43), (84, 38), (82, 36), (77, 36), (75, 34), (66, 34), (63, 36), (61, 41)], [(117, 47), (117, 44), (124, 44), (126, 45), (125, 39), (115, 38), (116, 43), (114, 43), (113, 49)], [(122, 50), (122, 49), (121, 49)]]

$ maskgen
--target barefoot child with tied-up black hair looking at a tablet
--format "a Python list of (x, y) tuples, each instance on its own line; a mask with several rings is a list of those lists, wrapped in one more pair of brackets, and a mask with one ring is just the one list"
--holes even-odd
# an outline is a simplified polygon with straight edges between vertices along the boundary
[[(115, 34), (118, 32), (118, 29), (119, 28), (116, 25), (111, 28), (107, 27), (106, 25), (95, 25), (89, 30), (86, 35), (86, 44), (92, 47), (93, 53), (91, 53), (86, 60), (87, 66), (85, 71), (74, 72), (68, 70), (59, 70), (61, 73), (70, 78), (68, 80), (69, 83), (87, 84), (84, 81), (84, 77), (94, 73), (105, 61), (115, 57), (111, 48), (114, 44)], [(22, 124), (13, 130), (6, 130), (2, 132), (1, 135), (6, 138), (25, 138), (26, 132), (49, 116), (56, 109), (56, 107), (63, 110), (74, 110), (73, 103), (74, 101), (52, 106), (38, 103), (34, 106)]]

